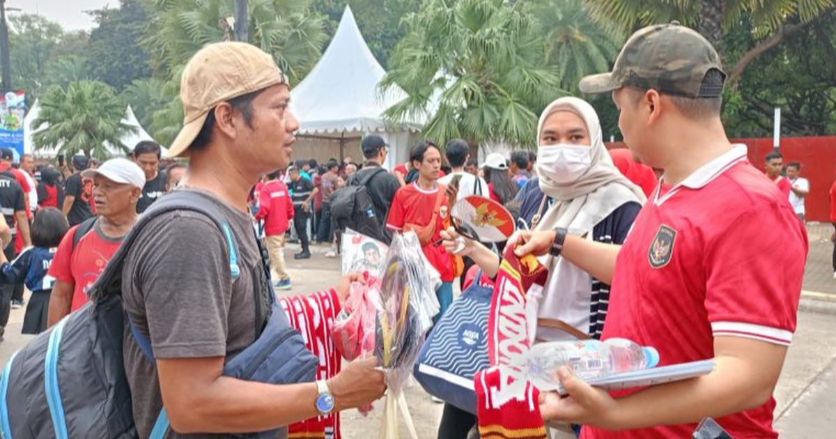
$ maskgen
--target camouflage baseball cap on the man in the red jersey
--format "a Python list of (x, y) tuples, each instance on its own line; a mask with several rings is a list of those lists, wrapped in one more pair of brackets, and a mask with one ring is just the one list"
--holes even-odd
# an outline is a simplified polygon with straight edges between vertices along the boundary
[(720, 56), (706, 38), (677, 22), (657, 24), (636, 31), (624, 43), (613, 71), (587, 76), (580, 81), (580, 90), (595, 94), (630, 87), (713, 98), (722, 94), (723, 86), (722, 82), (703, 84), (712, 69), (726, 79)]

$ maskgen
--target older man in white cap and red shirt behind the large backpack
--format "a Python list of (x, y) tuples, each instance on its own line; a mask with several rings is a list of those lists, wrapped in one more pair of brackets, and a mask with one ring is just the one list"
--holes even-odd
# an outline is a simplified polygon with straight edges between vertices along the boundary
[(69, 229), (55, 252), (48, 272), (56, 281), (49, 298), (50, 326), (87, 303), (87, 290), (134, 227), (136, 202), (145, 186), (145, 173), (127, 159), (105, 161), (98, 169), (83, 171), (81, 177), (93, 180), (99, 216)]

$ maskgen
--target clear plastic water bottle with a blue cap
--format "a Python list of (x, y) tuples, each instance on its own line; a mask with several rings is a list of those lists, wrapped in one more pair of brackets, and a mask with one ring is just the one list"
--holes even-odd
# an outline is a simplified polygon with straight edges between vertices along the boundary
[(524, 360), (528, 380), (540, 390), (557, 387), (558, 370), (568, 365), (584, 380), (659, 364), (659, 352), (629, 339), (553, 341), (534, 345)]

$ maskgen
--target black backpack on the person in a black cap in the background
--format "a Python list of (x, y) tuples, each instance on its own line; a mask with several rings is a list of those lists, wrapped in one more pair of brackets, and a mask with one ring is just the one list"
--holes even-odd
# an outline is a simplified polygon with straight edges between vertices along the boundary
[(375, 202), (369, 194), (369, 182), (376, 175), (385, 172), (383, 168), (370, 171), (363, 178), (351, 181), (349, 186), (334, 192), (331, 198), (331, 221), (334, 230), (345, 232), (350, 228), (367, 237), (388, 242), (382, 226), (382, 218), (375, 213)]

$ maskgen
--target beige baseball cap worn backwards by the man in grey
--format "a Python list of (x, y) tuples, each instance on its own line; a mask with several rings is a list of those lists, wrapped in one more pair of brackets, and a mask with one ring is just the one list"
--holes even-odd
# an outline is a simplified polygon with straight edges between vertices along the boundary
[(191, 57), (180, 82), (183, 128), (168, 149), (168, 158), (188, 156), (209, 110), (225, 100), (288, 84), (270, 54), (249, 43), (212, 43)]

